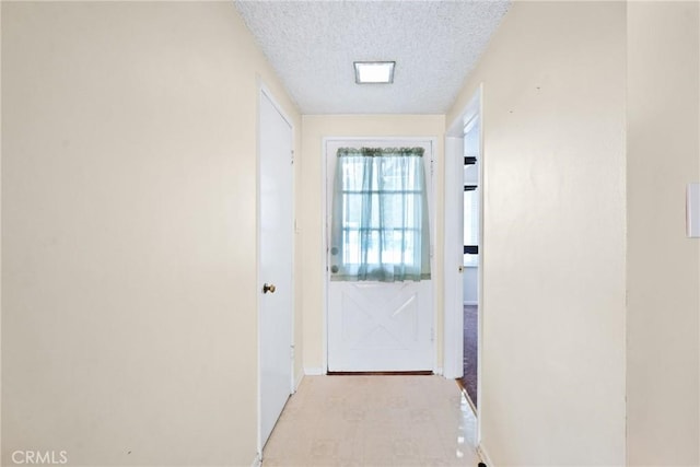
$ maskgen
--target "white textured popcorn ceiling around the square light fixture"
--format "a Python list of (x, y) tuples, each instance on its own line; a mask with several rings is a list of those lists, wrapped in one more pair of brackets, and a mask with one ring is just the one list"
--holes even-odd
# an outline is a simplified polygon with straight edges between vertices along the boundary
[[(303, 114), (443, 114), (509, 0), (236, 1)], [(355, 84), (353, 61), (396, 61)]]

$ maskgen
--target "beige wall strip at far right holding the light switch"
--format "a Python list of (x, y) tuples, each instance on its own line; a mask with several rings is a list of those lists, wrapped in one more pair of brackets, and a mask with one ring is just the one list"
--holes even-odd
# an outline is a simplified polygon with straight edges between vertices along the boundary
[(628, 464), (698, 465), (699, 3), (628, 5)]

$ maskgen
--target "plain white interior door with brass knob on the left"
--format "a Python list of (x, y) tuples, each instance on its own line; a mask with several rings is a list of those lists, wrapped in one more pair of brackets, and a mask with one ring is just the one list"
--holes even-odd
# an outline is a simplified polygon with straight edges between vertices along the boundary
[(260, 92), (259, 392), (260, 448), (292, 392), (292, 128)]

